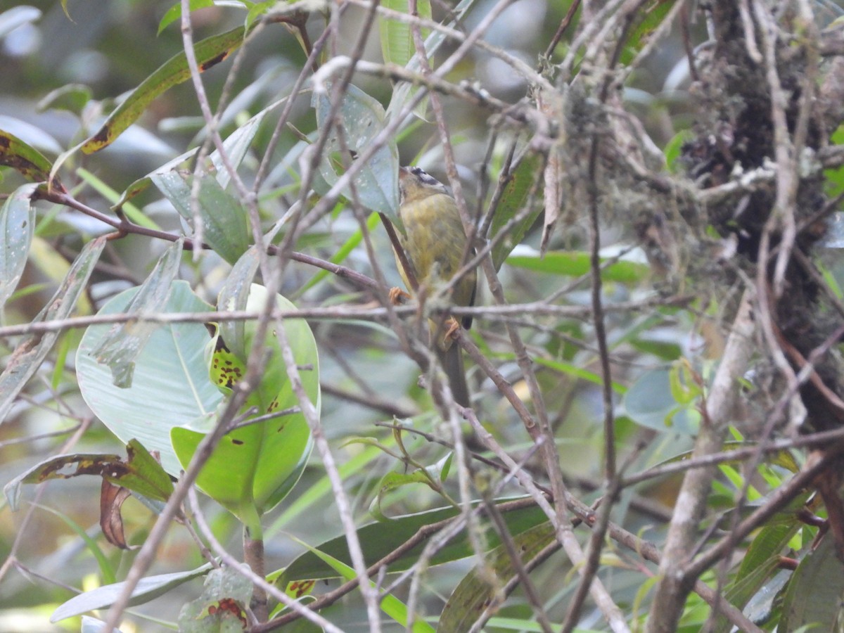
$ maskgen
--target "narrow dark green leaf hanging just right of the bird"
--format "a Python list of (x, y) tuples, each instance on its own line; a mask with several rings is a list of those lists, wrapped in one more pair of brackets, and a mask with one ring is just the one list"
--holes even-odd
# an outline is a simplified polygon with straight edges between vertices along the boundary
[[(527, 203), (528, 194), (533, 188), (533, 183), (541, 176), (539, 173), (541, 168), (542, 159), (537, 154), (529, 154), (525, 156), (517, 170), (511, 174), (510, 181), (504, 187), (504, 193), (501, 195), (500, 203), (492, 218), (490, 239), (495, 239), (502, 230), (505, 230), (507, 223), (522, 212), (525, 203)], [(527, 234), (527, 230), (533, 226), (533, 222), (536, 221), (541, 211), (541, 208), (536, 208), (507, 229), (506, 237), (492, 249), (492, 262), (495, 264), (495, 270), (501, 268), (501, 264), (511, 251), (521, 243), (525, 234)]]

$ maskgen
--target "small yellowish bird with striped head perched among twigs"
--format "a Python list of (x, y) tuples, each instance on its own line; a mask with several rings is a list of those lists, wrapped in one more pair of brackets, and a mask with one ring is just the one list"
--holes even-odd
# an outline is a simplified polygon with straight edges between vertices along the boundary
[[(451, 281), (463, 265), (467, 238), (457, 203), (445, 185), (419, 167), (399, 168), (398, 190), (399, 215), (406, 231), (406, 235), (398, 233), (398, 241), (413, 267), (419, 288), (435, 292)], [(413, 289), (398, 254), (396, 263), (404, 284)], [(463, 275), (452, 288), (452, 304), (472, 306), (476, 285), (474, 271)], [(431, 337), (436, 341), (437, 355), (448, 376), (455, 402), (468, 407), (470, 399), (463, 370), (463, 352), (451, 338), (457, 327), (453, 317), (446, 321), (444, 327), (437, 327), (431, 322)], [(472, 327), (472, 317), (463, 318), (463, 327)]]

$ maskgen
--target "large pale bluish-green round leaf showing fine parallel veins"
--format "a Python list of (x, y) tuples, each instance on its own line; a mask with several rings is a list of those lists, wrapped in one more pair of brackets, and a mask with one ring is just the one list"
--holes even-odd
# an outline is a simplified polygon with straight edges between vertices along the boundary
[[(116, 295), (99, 314), (122, 314), (137, 292), (130, 288)], [(187, 282), (176, 281), (164, 311), (208, 312), (211, 306), (194, 295)], [(208, 330), (202, 323), (156, 328), (135, 359), (132, 387), (122, 389), (111, 381), (108, 367), (91, 355), (109, 327), (89, 327), (79, 344), (76, 367), (82, 397), (112, 433), (126, 443), (137, 438), (149, 451), (158, 451), (165, 471), (178, 476), (181, 463), (170, 445), (170, 429), (213, 415), (222, 400), (208, 380)]]

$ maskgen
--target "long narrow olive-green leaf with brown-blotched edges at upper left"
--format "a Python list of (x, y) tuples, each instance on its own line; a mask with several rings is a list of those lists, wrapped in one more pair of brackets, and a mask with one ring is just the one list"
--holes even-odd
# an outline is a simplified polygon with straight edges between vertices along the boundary
[[(246, 30), (242, 26), (226, 31), (219, 35), (213, 35), (203, 41), (194, 44), (193, 49), (197, 57), (197, 64), (200, 72), (204, 72), (216, 66), (219, 62), (235, 51), (246, 38)], [(106, 119), (100, 127), (100, 131), (86, 140), (80, 146), (84, 154), (93, 154), (111, 143), (120, 136), (130, 125), (138, 120), (150, 103), (167, 89), (187, 81), (191, 71), (187, 68), (185, 52), (176, 53), (165, 62), (143, 83), (134, 89), (132, 93), (123, 100), (116, 110)]]

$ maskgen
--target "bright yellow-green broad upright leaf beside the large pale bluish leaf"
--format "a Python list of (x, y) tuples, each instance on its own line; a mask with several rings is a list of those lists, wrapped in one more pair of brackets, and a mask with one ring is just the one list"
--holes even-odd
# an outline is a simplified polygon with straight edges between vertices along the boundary
[[(252, 285), (246, 302), (247, 311), (262, 311), (268, 299), (267, 289)], [(281, 310), (295, 306), (276, 296)], [(219, 306), (230, 310), (231, 306)], [(245, 347), (251, 354), (255, 322), (246, 323)], [(302, 319), (284, 319), (284, 332), (300, 368), (302, 385), (311, 402), (320, 408), (319, 360), (311, 328)], [(219, 336), (219, 335), (218, 335)], [(219, 339), (214, 349), (219, 349)], [(259, 353), (269, 357), (255, 390), (246, 399), (244, 411), (256, 407), (257, 415), (294, 408), (299, 405), (287, 376), (282, 349), (274, 324)], [(228, 359), (229, 357), (225, 357)], [(218, 357), (219, 359), (219, 357)], [(246, 359), (240, 359), (246, 365)], [(248, 419), (246, 419), (248, 423)], [(174, 428), (173, 446), (182, 466), (187, 466), (208, 428)], [(214, 500), (232, 511), (241, 521), (251, 524), (276, 506), (293, 488), (305, 468), (311, 452), (311, 430), (304, 414), (295, 412), (232, 430), (220, 441), (214, 454), (199, 473), (197, 484)]]

